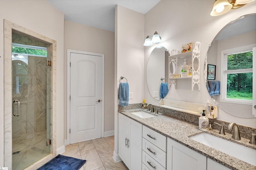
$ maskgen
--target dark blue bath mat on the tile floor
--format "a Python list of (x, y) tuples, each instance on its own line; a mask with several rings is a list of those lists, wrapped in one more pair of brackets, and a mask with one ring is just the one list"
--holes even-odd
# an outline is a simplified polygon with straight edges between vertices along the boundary
[(37, 170), (79, 170), (86, 160), (72, 158), (58, 154), (55, 158)]

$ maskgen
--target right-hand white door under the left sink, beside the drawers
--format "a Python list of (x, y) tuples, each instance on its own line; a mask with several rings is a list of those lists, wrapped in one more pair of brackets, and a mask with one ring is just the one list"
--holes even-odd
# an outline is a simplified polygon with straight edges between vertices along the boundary
[(130, 170), (142, 168), (142, 124), (130, 119), (129, 138), (129, 166)]

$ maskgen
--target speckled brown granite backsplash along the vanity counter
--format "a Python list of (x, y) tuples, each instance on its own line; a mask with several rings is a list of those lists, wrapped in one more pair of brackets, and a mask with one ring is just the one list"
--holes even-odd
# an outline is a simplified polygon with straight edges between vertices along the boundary
[[(139, 108), (142, 108), (142, 103), (129, 104), (129, 106), (118, 105), (118, 111), (128, 110), (128, 109), (139, 109)], [(160, 109), (159, 113), (163, 113), (164, 115), (198, 125), (198, 117), (199, 117), (198, 115), (192, 115), (192, 114), (185, 113), (182, 111), (176, 111), (176, 110), (167, 109), (164, 107), (154, 106), (154, 110), (156, 110), (156, 108)], [(213, 129), (220, 129), (220, 127), (218, 125), (215, 125), (214, 122), (219, 123), (220, 125), (224, 125), (225, 132), (232, 133), (230, 130), (227, 129), (230, 122), (222, 121), (222, 120), (218, 120), (218, 119), (209, 119), (209, 123), (211, 123)], [(256, 133), (256, 128), (254, 128), (254, 127), (248, 127), (245, 125), (238, 124), (238, 128), (239, 128), (241, 137), (244, 137), (246, 139), (250, 139), (252, 136), (252, 133)]]

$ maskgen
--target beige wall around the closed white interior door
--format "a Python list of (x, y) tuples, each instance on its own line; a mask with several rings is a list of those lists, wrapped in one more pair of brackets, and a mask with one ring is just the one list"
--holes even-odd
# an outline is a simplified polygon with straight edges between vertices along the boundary
[[(104, 132), (114, 134), (114, 32), (64, 21), (64, 106), (67, 95), (67, 49), (105, 55)], [(64, 107), (64, 139), (66, 139), (66, 107)], [(110, 132), (110, 133), (111, 133)]]

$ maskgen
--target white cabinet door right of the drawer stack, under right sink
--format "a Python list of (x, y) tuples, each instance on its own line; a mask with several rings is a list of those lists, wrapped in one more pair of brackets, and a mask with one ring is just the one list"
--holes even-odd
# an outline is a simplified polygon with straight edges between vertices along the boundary
[(206, 170), (206, 156), (167, 139), (167, 170)]

